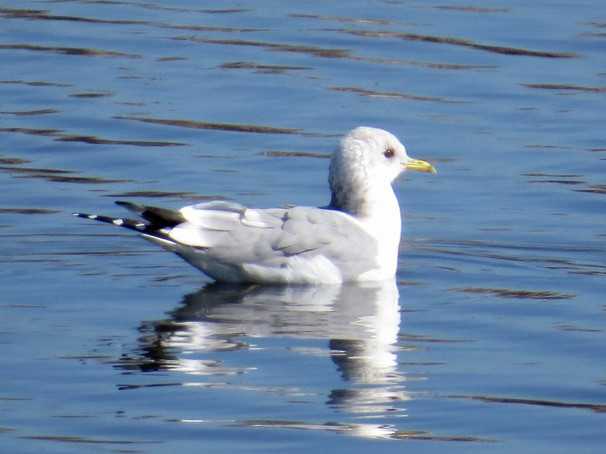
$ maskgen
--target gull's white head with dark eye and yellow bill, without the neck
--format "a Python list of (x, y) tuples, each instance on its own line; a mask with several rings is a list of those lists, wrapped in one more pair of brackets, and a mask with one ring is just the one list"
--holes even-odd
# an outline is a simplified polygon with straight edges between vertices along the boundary
[(396, 136), (378, 128), (361, 126), (351, 130), (340, 145), (331, 160), (331, 174), (348, 170), (347, 173), (363, 174), (367, 180), (391, 183), (406, 169), (436, 172), (430, 163), (409, 157)]

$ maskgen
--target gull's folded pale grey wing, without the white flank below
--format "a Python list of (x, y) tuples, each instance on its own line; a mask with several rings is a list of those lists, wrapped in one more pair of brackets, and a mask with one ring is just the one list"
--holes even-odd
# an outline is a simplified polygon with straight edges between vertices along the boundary
[(350, 215), (330, 209), (248, 209), (230, 202), (209, 202), (181, 209), (187, 222), (171, 229), (171, 239), (204, 249), (228, 265), (279, 268), (290, 258), (322, 255), (345, 279), (375, 268), (378, 245)]

